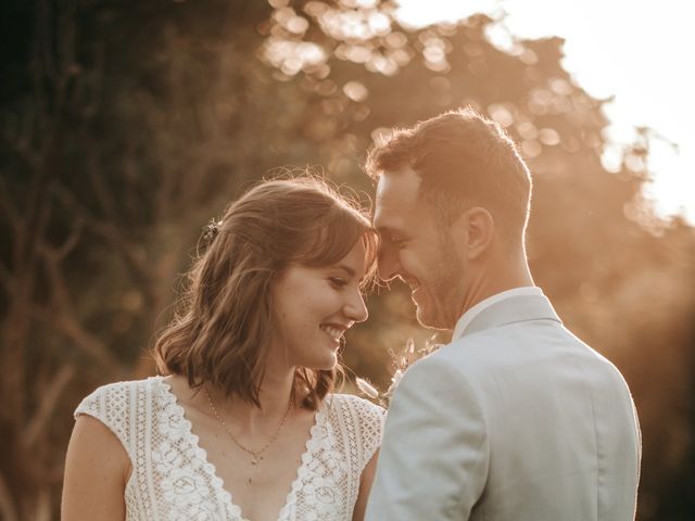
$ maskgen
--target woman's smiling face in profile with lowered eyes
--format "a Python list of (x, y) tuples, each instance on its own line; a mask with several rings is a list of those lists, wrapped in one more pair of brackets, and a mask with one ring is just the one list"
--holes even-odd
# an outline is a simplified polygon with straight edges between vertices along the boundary
[(273, 287), (278, 322), (270, 356), (285, 356), (290, 367), (333, 368), (344, 332), (367, 319), (364, 275), (362, 241), (332, 266), (287, 268)]

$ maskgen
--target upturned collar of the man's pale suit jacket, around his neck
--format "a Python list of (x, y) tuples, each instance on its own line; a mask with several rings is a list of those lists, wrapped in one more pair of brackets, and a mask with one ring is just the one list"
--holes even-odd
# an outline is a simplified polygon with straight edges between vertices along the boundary
[[(462, 319), (464, 318), (465, 315)], [(528, 320), (555, 320), (561, 323), (551, 301), (542, 293), (509, 294), (481, 309), (463, 328), (457, 325), (452, 340), (485, 329)]]

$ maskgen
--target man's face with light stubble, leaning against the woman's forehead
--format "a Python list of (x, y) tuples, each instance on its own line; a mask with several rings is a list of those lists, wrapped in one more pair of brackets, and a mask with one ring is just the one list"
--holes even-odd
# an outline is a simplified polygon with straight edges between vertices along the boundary
[(417, 319), (426, 327), (453, 329), (460, 310), (464, 269), (452, 234), (418, 199), (419, 176), (408, 166), (379, 178), (375, 226), (381, 234), (379, 275), (410, 287)]

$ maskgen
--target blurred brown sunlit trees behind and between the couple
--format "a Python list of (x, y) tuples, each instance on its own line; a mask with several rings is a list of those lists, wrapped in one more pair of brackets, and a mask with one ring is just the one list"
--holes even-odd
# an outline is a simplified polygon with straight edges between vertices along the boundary
[[(507, 129), (534, 175), (536, 283), (632, 389), (637, 518), (695, 519), (695, 232), (645, 196), (661, 138), (641, 126), (611, 139), (608, 100), (568, 73), (561, 38), (501, 45), (504, 17), (416, 26), (396, 12), (378, 0), (3, 2), (0, 519), (59, 518), (74, 408), (100, 384), (154, 373), (149, 350), (201, 229), (249, 182), (309, 165), (367, 201), (375, 141), (466, 104)], [(400, 284), (368, 306), (343, 358), (386, 389), (389, 350), (431, 331)]]

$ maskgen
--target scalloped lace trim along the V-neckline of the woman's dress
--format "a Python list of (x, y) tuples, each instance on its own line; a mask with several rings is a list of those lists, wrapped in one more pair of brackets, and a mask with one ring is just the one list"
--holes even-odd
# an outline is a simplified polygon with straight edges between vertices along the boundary
[[(210, 474), (211, 485), (213, 486), (215, 492), (222, 496), (223, 501), (225, 504), (225, 508), (232, 516), (236, 516), (237, 518), (239, 518), (238, 521), (251, 521), (250, 519), (243, 516), (241, 507), (233, 501), (233, 496), (231, 492), (225, 488), (225, 481), (222, 478), (219, 478), (219, 475), (217, 474), (217, 468), (215, 467), (215, 465), (207, 460), (207, 452), (199, 445), (200, 437), (193, 433), (192, 431), (193, 425), (191, 421), (188, 418), (186, 418), (186, 409), (184, 409), (184, 407), (178, 403), (178, 396), (174, 394), (174, 392), (172, 391), (172, 385), (168, 382), (165, 382), (164, 377), (162, 376), (151, 377), (151, 378), (159, 381), (159, 383), (162, 385), (162, 389), (164, 390), (164, 394), (168, 397), (169, 402), (174, 405), (174, 411), (179, 417), (179, 420), (184, 425), (182, 432), (186, 439), (186, 443), (195, 453), (198, 453), (201, 456), (201, 459), (204, 462), (203, 469)], [(292, 498), (293, 496), (296, 495), (296, 491), (299, 488), (299, 485), (301, 484), (303, 474), (305, 473), (304, 469), (306, 468), (307, 462), (311, 460), (312, 450), (316, 446), (316, 443), (315, 443), (316, 436), (320, 432), (324, 425), (324, 421), (325, 421), (324, 408), (325, 407), (326, 407), (326, 404), (324, 403), (320, 404), (319, 407), (316, 409), (316, 412), (314, 414), (314, 423), (309, 429), (309, 435), (306, 439), (306, 442), (304, 444), (304, 452), (302, 453), (302, 456), (300, 458), (301, 463), (296, 468), (296, 475), (294, 480), (292, 481), (292, 483), (290, 483), (290, 491), (287, 493), (285, 504), (278, 511), (278, 517), (277, 517), (278, 521), (282, 521), (283, 518), (287, 517), (287, 511), (292, 505)]]

